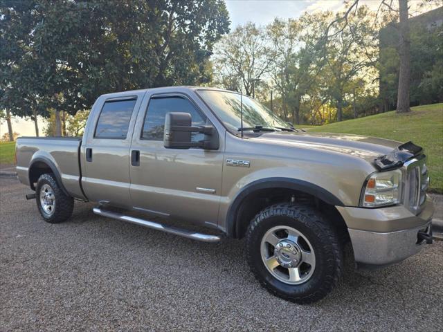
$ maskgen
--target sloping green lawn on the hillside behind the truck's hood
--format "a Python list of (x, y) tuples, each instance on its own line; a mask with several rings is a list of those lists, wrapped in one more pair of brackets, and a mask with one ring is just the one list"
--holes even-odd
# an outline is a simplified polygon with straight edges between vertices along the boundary
[(407, 142), (424, 147), (428, 156), (431, 192), (443, 194), (443, 104), (413, 107), (412, 111), (395, 111), (325, 124), (309, 131), (329, 133), (355, 133)]

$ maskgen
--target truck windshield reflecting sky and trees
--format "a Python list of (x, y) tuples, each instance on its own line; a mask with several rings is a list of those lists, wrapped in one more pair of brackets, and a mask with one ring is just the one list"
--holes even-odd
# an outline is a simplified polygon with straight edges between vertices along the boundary
[[(199, 95), (216, 113), (221, 122), (232, 131), (242, 127), (239, 93), (228, 91), (199, 90)], [(289, 124), (275, 116), (268, 108), (246, 95), (242, 96), (243, 127), (262, 126), (267, 128), (288, 128)]]

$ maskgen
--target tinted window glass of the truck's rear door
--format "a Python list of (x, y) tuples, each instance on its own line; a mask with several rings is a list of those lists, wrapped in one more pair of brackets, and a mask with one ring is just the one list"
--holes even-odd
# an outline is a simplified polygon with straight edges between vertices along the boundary
[(135, 104), (135, 98), (105, 102), (98, 117), (94, 137), (124, 140), (129, 129), (129, 121), (131, 120)]

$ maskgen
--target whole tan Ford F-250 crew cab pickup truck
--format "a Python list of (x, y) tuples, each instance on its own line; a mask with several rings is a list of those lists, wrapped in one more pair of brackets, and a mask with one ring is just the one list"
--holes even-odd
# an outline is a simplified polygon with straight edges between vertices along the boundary
[(191, 239), (245, 237), (262, 286), (300, 304), (332, 291), (348, 241), (360, 267), (432, 242), (421, 147), (300, 131), (232, 91), (102, 95), (83, 138), (19, 138), (17, 174), (49, 223), (68, 219), (78, 199), (97, 202), (96, 214)]

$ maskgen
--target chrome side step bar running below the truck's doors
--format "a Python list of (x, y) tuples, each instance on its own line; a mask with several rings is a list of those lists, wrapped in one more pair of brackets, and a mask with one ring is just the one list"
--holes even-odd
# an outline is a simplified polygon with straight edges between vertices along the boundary
[(204, 242), (218, 242), (221, 237), (217, 235), (209, 235), (192, 232), (190, 230), (182, 230), (180, 228), (174, 228), (168, 225), (162, 225), (161, 223), (154, 223), (154, 221), (148, 221), (145, 219), (136, 218), (134, 216), (125, 216), (118, 212), (107, 211), (102, 207), (93, 208), (92, 210), (95, 214), (100, 216), (107, 216), (108, 218), (117, 219), (121, 221), (127, 221), (128, 223), (135, 223), (136, 225), (145, 226), (147, 228), (153, 228), (154, 230), (162, 230), (163, 232), (179, 235), (180, 237), (187, 237), (188, 239), (193, 239), (197, 241)]

